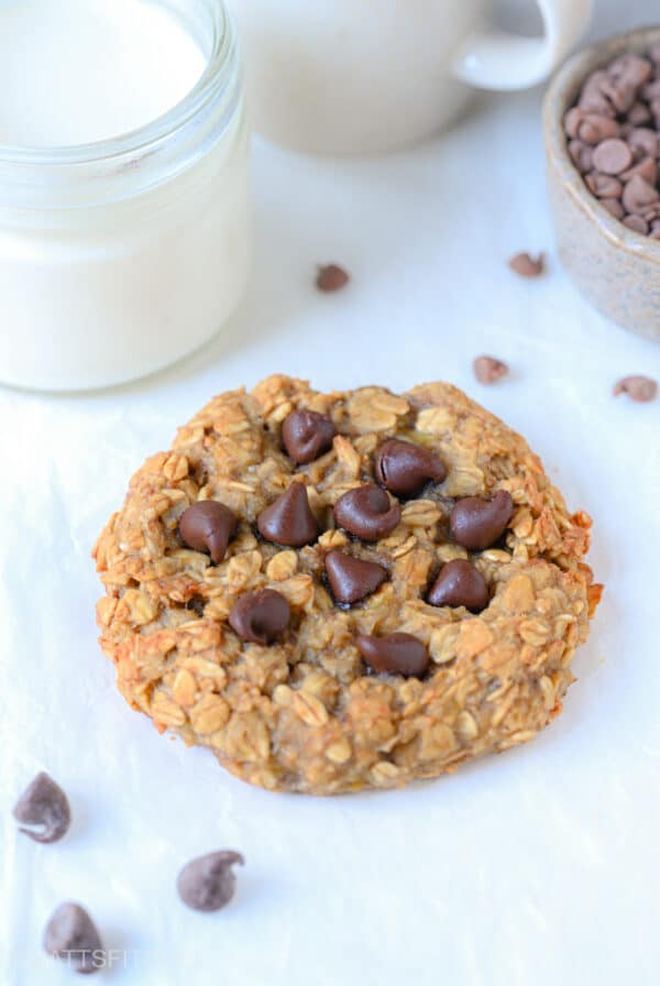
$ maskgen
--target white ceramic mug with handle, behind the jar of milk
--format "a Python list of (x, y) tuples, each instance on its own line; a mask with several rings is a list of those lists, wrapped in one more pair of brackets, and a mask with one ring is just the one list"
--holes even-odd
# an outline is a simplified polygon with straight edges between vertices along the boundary
[[(531, 2), (531, 0), (530, 0)], [(491, 0), (228, 0), (258, 132), (301, 151), (377, 153), (417, 143), (464, 109), (470, 87), (546, 78), (593, 0), (536, 0), (542, 37), (493, 26)]]

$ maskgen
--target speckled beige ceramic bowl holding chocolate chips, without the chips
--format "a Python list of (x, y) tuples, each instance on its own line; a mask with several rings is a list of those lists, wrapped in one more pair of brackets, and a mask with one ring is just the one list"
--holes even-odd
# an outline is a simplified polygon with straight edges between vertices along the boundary
[(585, 187), (569, 157), (563, 130), (586, 76), (627, 51), (647, 52), (660, 28), (617, 34), (580, 52), (552, 80), (543, 107), (548, 187), (561, 261), (603, 315), (660, 341), (660, 241), (628, 230)]

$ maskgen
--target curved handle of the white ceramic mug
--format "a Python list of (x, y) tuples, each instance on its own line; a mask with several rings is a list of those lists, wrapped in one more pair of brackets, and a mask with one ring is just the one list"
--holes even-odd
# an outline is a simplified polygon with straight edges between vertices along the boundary
[(453, 74), (480, 89), (527, 89), (547, 78), (590, 22), (594, 0), (537, 0), (543, 37), (519, 37), (484, 26), (468, 37)]

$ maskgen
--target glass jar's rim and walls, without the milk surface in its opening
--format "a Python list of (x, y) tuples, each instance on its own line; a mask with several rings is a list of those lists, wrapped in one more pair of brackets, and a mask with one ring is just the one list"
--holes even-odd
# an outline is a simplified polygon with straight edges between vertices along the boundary
[[(133, 132), (0, 146), (0, 380), (109, 386), (199, 347), (243, 294), (249, 135), (221, 0), (155, 0), (207, 59), (195, 88)], [(1, 97), (0, 97), (1, 98)]]

